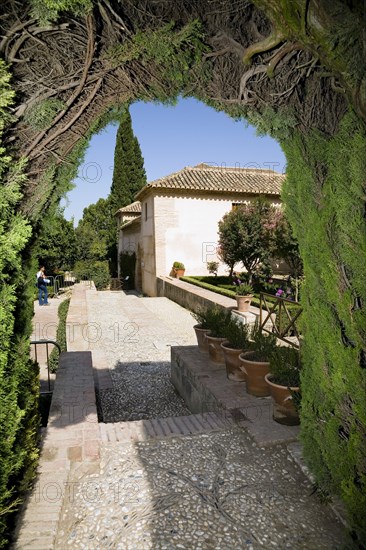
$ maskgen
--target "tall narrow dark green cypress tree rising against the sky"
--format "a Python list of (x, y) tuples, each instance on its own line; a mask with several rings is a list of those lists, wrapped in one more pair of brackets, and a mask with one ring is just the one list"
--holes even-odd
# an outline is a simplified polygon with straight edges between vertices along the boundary
[(114, 212), (134, 202), (136, 193), (146, 184), (144, 159), (132, 130), (131, 115), (124, 111), (117, 132), (114, 170), (110, 193)]

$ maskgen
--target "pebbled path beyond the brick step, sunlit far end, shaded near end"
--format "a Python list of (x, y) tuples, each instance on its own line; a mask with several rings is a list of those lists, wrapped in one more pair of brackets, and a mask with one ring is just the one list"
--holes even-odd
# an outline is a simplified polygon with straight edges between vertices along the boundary
[(97, 328), (101, 336), (91, 347), (104, 350), (113, 381), (99, 393), (103, 421), (190, 414), (170, 382), (170, 348), (196, 344), (191, 314), (167, 298), (101, 292), (87, 299), (90, 339)]

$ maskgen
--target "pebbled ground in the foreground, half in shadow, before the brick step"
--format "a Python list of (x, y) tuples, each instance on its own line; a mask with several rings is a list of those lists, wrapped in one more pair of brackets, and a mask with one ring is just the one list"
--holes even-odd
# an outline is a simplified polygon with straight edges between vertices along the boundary
[(342, 541), (286, 449), (259, 449), (236, 429), (105, 444), (100, 473), (73, 489), (58, 550), (315, 550)]

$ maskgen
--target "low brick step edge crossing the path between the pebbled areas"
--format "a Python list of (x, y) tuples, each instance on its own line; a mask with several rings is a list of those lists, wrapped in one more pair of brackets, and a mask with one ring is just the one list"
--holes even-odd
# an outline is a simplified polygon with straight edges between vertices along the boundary
[(100, 423), (99, 429), (102, 441), (114, 443), (207, 433), (223, 430), (233, 425), (234, 422), (231, 418), (207, 412), (133, 422)]

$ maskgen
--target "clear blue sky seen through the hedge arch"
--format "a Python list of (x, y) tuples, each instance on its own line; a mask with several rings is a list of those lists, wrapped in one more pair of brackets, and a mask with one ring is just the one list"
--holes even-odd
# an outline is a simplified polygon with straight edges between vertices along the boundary
[[(235, 121), (196, 99), (177, 105), (137, 102), (130, 107), (132, 126), (140, 142), (147, 181), (167, 176), (200, 162), (218, 166), (271, 168), (284, 172), (285, 156), (270, 137)], [(75, 188), (67, 195), (65, 217), (77, 225), (83, 209), (106, 198), (112, 175), (117, 126), (109, 125), (90, 140)], [(62, 206), (65, 201), (62, 201)]]

